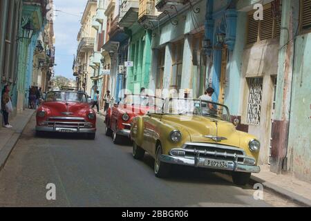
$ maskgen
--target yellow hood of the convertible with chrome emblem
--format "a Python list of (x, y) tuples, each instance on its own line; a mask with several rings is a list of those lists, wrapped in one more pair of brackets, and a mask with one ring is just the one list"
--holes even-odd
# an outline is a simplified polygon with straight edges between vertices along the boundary
[[(240, 134), (234, 125), (221, 119), (202, 116), (164, 115), (162, 121), (171, 124), (182, 133), (189, 133), (191, 142), (218, 143), (229, 146), (241, 146)], [(217, 123), (217, 126), (216, 126)], [(209, 137), (223, 137), (216, 141)]]

